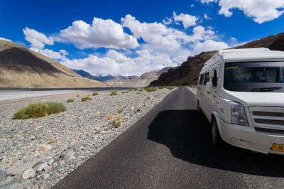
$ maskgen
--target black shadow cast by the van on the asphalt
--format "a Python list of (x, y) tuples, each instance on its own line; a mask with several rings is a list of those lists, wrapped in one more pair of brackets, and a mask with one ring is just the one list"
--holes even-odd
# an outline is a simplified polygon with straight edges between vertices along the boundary
[(211, 144), (209, 121), (196, 110), (165, 110), (148, 126), (148, 138), (170, 148), (175, 158), (237, 173), (284, 177), (284, 156)]

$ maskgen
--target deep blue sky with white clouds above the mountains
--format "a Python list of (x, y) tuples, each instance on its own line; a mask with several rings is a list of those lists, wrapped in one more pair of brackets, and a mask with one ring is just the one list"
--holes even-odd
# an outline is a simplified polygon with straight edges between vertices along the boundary
[(283, 0), (0, 1), (0, 38), (93, 75), (141, 75), (283, 32)]

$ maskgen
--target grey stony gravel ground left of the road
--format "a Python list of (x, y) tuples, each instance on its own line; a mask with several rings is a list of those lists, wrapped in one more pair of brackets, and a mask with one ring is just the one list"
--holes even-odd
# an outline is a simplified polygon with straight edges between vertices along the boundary
[[(13, 113), (30, 102), (0, 105), (0, 188), (50, 188), (98, 153), (143, 117), (172, 90), (99, 92), (82, 102), (63, 102), (66, 112), (15, 120)], [(119, 109), (122, 110), (118, 111)], [(119, 113), (120, 112), (120, 113)], [(121, 119), (115, 128), (114, 119)]]

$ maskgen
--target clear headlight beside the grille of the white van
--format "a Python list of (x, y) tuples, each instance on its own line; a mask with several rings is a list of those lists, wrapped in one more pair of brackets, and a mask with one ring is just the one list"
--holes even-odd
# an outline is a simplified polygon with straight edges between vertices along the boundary
[(229, 102), (231, 106), (231, 123), (249, 126), (243, 104), (239, 102)]

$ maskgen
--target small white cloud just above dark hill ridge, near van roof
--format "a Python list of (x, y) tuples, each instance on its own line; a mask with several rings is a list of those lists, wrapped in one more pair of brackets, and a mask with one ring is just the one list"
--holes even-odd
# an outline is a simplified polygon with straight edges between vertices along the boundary
[(212, 51), (212, 50), (221, 50), (224, 48), (229, 48), (228, 45), (224, 42), (207, 40), (204, 43), (197, 42), (195, 47), (192, 50), (193, 55), (199, 54), (203, 51)]

